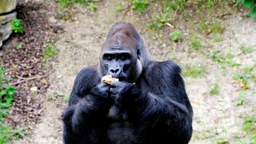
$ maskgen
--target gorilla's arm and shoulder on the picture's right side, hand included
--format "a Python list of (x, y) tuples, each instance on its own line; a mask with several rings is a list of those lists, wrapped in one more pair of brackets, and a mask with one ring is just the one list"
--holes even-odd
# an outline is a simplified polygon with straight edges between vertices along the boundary
[(132, 121), (137, 123), (139, 137), (189, 142), (193, 111), (180, 71), (174, 62), (154, 62), (142, 74), (146, 86), (113, 82), (110, 95), (136, 118)]

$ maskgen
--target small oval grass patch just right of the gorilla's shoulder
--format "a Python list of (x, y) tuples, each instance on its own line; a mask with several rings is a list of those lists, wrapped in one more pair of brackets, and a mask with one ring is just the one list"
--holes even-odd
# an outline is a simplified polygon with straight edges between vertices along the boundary
[(206, 73), (204, 66), (185, 66), (183, 70), (183, 75), (185, 77), (198, 78)]

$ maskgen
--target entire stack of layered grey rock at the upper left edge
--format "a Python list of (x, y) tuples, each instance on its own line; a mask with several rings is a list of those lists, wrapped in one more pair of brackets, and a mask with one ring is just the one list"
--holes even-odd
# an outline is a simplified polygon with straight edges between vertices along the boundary
[(0, 48), (2, 41), (9, 38), (12, 32), (12, 20), (17, 15), (14, 12), (16, 5), (16, 0), (0, 0)]

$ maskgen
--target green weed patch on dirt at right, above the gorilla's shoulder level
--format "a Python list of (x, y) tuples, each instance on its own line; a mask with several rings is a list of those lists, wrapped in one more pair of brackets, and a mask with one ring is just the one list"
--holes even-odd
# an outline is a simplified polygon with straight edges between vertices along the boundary
[(238, 66), (233, 60), (234, 56), (230, 53), (221, 54), (219, 50), (212, 50), (207, 54), (207, 57), (214, 62), (218, 62), (222, 68), (225, 68), (226, 66)]

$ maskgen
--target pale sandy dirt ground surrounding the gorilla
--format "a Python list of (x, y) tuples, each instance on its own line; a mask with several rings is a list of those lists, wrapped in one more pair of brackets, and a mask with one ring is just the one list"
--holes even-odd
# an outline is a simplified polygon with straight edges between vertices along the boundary
[[(246, 105), (237, 106), (239, 86), (233, 81), (232, 72), (238, 68), (226, 67), (226, 74), (217, 62), (212, 62), (205, 54), (190, 50), (190, 44), (184, 38), (178, 44), (168, 43), (165, 36), (146, 30), (149, 16), (136, 14), (133, 10), (116, 12), (114, 6), (126, 5), (116, 0), (103, 1), (98, 4), (98, 10), (90, 11), (77, 6), (78, 13), (72, 17), (74, 21), (63, 21), (51, 16), (49, 21), (64, 27), (64, 33), (58, 34), (56, 47), (58, 54), (50, 74), (50, 88), (46, 93), (44, 114), (34, 131), (25, 138), (14, 143), (62, 143), (61, 114), (67, 102), (62, 99), (68, 96), (72, 89), (74, 78), (85, 66), (98, 64), (98, 55), (106, 38), (106, 33), (115, 22), (130, 22), (141, 32), (142, 38), (150, 54), (157, 60), (170, 59), (175, 54), (174, 61), (186, 65), (202, 65), (206, 74), (199, 78), (184, 77), (186, 92), (194, 109), (194, 134), (190, 143), (235, 143), (240, 138), (248, 138), (242, 130), (244, 118), (255, 114), (256, 98), (255, 84), (250, 83), (246, 90)], [(145, 20), (145, 21), (144, 21)], [(204, 40), (202, 48), (207, 50), (222, 50), (234, 54), (238, 64), (254, 66), (256, 63), (256, 25), (255, 21), (246, 18), (244, 14), (233, 14), (225, 20), (221, 42)], [(186, 24), (180, 26), (186, 33)], [(159, 40), (163, 38), (163, 40)], [(254, 52), (242, 54), (239, 47), (253, 46)], [(255, 70), (255, 69), (254, 69)], [(214, 83), (219, 85), (219, 93), (210, 95)], [(61, 94), (56, 98), (56, 94)], [(55, 96), (54, 96), (55, 95)]]

